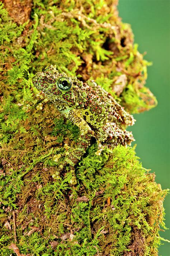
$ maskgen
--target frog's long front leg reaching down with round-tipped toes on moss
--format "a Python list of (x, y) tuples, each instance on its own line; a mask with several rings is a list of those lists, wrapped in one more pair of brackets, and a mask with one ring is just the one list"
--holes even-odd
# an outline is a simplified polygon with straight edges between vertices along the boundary
[(63, 169), (65, 169), (66, 165), (69, 164), (70, 170), (72, 172), (70, 183), (75, 185), (77, 181), (74, 172), (74, 166), (86, 152), (86, 149), (90, 145), (91, 137), (94, 136), (94, 131), (91, 130), (88, 123), (86, 123), (86, 121), (81, 117), (81, 112), (79, 109), (67, 109), (62, 111), (62, 114), (80, 128), (80, 137), (76, 142), (76, 148), (70, 149), (68, 151), (68, 154), (65, 156), (63, 163), (58, 167), (58, 170), (53, 175), (53, 178), (60, 179), (60, 173)]

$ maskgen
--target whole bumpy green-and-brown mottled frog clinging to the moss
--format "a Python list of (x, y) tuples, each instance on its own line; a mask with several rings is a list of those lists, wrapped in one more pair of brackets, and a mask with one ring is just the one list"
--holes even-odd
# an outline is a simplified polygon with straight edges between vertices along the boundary
[(59, 73), (51, 65), (36, 74), (33, 84), (52, 100), (63, 116), (80, 128), (76, 148), (70, 149), (53, 178), (60, 179), (60, 172), (70, 164), (73, 173), (70, 183), (76, 184), (74, 166), (90, 145), (91, 137), (98, 142), (97, 155), (105, 146), (114, 148), (134, 140), (132, 133), (125, 130), (134, 124), (133, 116), (94, 81), (83, 83), (74, 76)]

